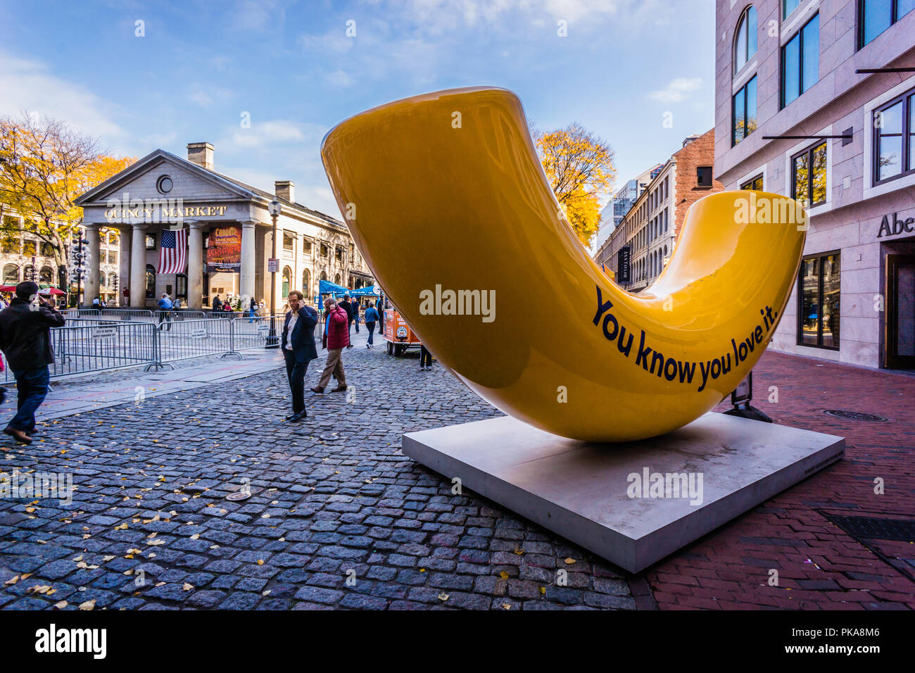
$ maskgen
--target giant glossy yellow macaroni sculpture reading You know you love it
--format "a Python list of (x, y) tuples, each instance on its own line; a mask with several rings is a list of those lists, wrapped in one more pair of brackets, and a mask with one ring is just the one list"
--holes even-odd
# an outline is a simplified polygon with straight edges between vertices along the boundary
[(650, 288), (622, 290), (562, 219), (501, 89), (382, 105), (332, 129), (321, 156), (362, 255), (436, 358), (505, 413), (577, 440), (651, 437), (715, 407), (765, 349), (801, 262), (789, 200), (723, 192), (689, 209)]

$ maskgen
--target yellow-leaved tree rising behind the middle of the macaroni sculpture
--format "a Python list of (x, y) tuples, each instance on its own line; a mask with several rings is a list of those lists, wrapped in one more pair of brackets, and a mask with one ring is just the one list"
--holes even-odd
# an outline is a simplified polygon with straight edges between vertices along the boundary
[(600, 224), (599, 199), (613, 184), (613, 150), (583, 126), (534, 132), (534, 141), (556, 201), (586, 247)]

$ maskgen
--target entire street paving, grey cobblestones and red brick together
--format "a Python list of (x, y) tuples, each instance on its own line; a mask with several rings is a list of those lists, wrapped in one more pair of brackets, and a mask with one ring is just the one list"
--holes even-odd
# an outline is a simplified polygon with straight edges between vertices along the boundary
[[(30, 447), (5, 440), (7, 475), (70, 472), (78, 490), (71, 507), (0, 499), (0, 607), (915, 607), (913, 545), (827, 518), (915, 520), (915, 377), (766, 353), (755, 405), (845, 436), (845, 460), (632, 576), (404, 457), (405, 431), (500, 415), (417, 357), (350, 349), (354, 396), (307, 397), (301, 424), (283, 420), (276, 370), (58, 418)], [(225, 499), (245, 481), (250, 499)]]

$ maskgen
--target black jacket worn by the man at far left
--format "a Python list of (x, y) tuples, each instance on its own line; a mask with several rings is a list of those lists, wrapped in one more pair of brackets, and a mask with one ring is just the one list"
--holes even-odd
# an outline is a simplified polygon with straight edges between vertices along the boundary
[(14, 372), (38, 369), (54, 362), (50, 328), (63, 327), (66, 320), (57, 310), (44, 306), (36, 310), (26, 299), (13, 299), (0, 311), (0, 350)]

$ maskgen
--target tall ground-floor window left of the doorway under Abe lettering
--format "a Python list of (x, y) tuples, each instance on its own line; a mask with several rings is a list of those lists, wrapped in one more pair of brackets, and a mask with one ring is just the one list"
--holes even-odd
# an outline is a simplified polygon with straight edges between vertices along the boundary
[(798, 344), (839, 349), (839, 253), (804, 257), (798, 274)]

